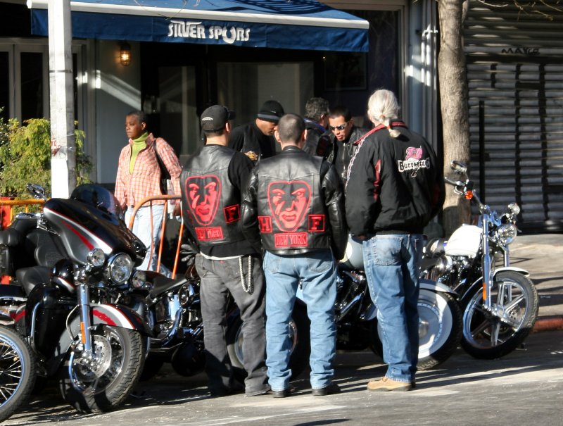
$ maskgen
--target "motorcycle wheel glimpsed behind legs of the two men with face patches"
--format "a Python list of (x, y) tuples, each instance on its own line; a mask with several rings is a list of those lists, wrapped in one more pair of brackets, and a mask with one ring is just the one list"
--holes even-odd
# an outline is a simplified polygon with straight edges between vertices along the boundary
[[(295, 379), (298, 375), (308, 368), (310, 354), (310, 322), (307, 316), (307, 307), (301, 303), (293, 306), (291, 322), (287, 330), (288, 339), (291, 339), (291, 356), (289, 358), (289, 368), (291, 368), (291, 378)], [(234, 320), (227, 328), (227, 351), (231, 364), (235, 369), (237, 379), (246, 377), (243, 365), (243, 333), (242, 321), (240, 316)]]

